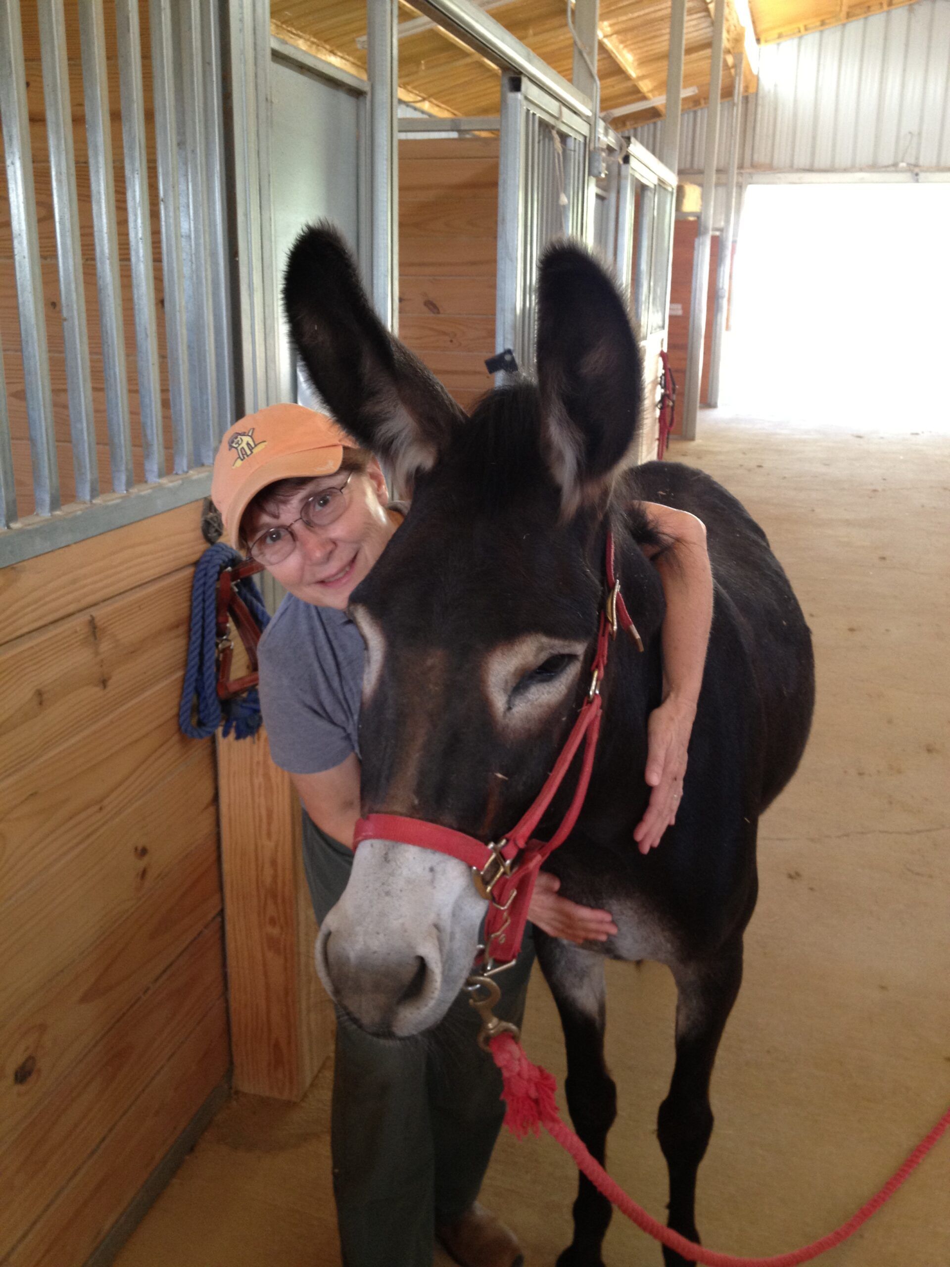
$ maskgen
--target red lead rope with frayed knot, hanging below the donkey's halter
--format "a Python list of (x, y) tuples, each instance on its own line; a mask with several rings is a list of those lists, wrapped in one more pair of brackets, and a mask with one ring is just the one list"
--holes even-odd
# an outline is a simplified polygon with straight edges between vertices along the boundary
[(523, 1048), (510, 1034), (502, 1034), (489, 1041), (491, 1057), (502, 1071), (504, 1081), (503, 1096), (507, 1104), (504, 1124), (508, 1129), (523, 1138), (528, 1131), (538, 1133), (538, 1128), (545, 1130), (557, 1140), (574, 1158), (578, 1169), (583, 1171), (590, 1182), (603, 1195), (617, 1206), (632, 1223), (646, 1232), (655, 1240), (670, 1249), (675, 1249), (689, 1262), (707, 1263), (708, 1267), (795, 1267), (797, 1263), (809, 1262), (823, 1254), (826, 1249), (840, 1245), (847, 1240), (863, 1223), (885, 1204), (897, 1192), (920, 1163), (934, 1148), (940, 1136), (950, 1128), (950, 1109), (944, 1114), (930, 1134), (921, 1140), (903, 1166), (887, 1181), (879, 1192), (866, 1201), (861, 1209), (852, 1215), (847, 1223), (830, 1232), (820, 1240), (813, 1240), (809, 1245), (793, 1249), (787, 1254), (773, 1254), (770, 1258), (736, 1258), (733, 1254), (718, 1253), (714, 1249), (706, 1249), (694, 1240), (687, 1240), (678, 1232), (665, 1228), (657, 1223), (652, 1215), (628, 1197), (623, 1188), (616, 1183), (607, 1171), (597, 1162), (574, 1131), (561, 1121), (555, 1101), (556, 1083), (547, 1069), (532, 1064), (524, 1054)]

